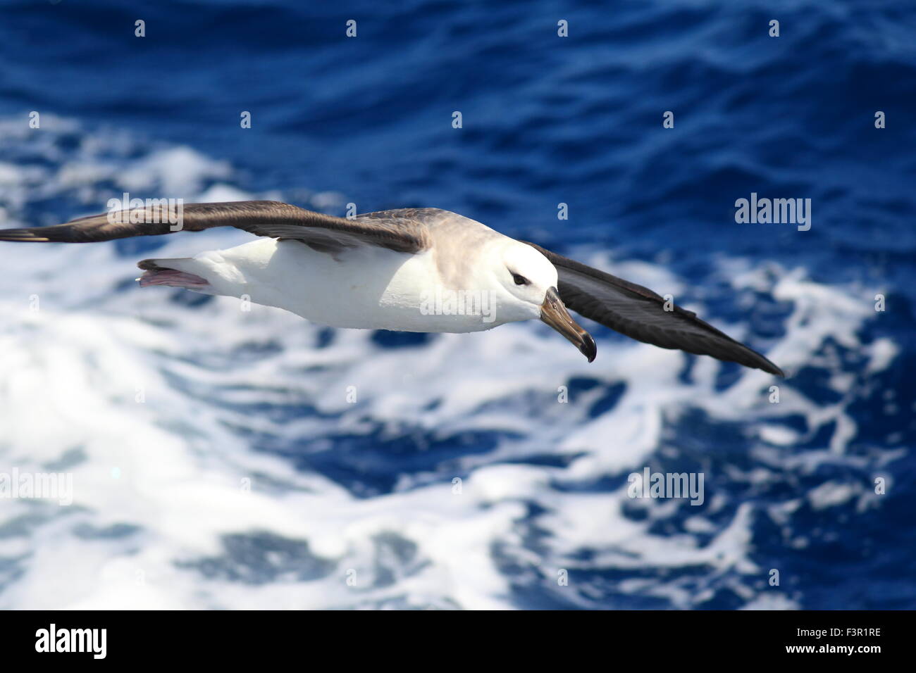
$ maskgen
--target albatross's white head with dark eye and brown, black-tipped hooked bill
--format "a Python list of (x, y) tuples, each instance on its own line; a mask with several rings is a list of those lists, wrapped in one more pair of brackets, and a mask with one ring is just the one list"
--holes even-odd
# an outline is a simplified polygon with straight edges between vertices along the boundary
[(560, 299), (557, 268), (529, 244), (506, 242), (497, 255), (496, 280), (509, 295), (506, 308), (518, 313), (514, 320), (540, 318), (573, 343), (589, 362), (597, 347), (592, 335), (573, 320)]

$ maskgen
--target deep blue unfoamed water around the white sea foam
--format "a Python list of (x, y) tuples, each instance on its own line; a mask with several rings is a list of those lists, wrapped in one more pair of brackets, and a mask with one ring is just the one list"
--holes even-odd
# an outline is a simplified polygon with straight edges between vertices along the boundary
[[(832, 446), (837, 431), (833, 423), (812, 427), (801, 411), (779, 420), (797, 440), (778, 459), (761, 462), (751, 450), (757, 435), (748, 429), (765, 413), (726, 420), (678, 407), (664, 416), (646, 464), (703, 469), (707, 497), (728, 505), (706, 507), (708, 533), (687, 526), (690, 507), (660, 516), (629, 512), (625, 503), (623, 511), (635, 521), (658, 516), (652, 536), (691, 531), (703, 547), (742, 505), (759, 513), (798, 499), (788, 525), (752, 516), (751, 537), (740, 545), (760, 569), (780, 569), (792, 606), (916, 608), (916, 5), (4, 0), (0, 16), (0, 117), (25, 125), (35, 110), (48, 120), (71, 120), (77, 130), (55, 132), (60, 157), (77, 152), (87, 136), (124, 135), (128, 140), (105, 150), (104, 160), (127, 165), (157, 147), (191, 147), (232, 167), (229, 177), (204, 176), (166, 196), (190, 199), (229, 183), (335, 214), (348, 201), (359, 212), (461, 212), (558, 252), (610, 253), (661, 268), (681, 282), (681, 303), (702, 307), (717, 324), (741, 326), (745, 341), (764, 351), (784, 342), (795, 305), (766, 283), (736, 288), (733, 273), (757, 271), (775, 283), (801, 270), (812, 286), (842, 291), (869, 309), (874, 295), (884, 294), (887, 310), (871, 310), (855, 326), (855, 342), (827, 330), (809, 360), (788, 367), (788, 389), (817, 407), (840, 405), (854, 421), (853, 435), (833, 445), (848, 461), (799, 469), (792, 459), (803, 462), (808, 451)], [(134, 35), (136, 19), (146, 21), (145, 38)], [(344, 35), (348, 19), (357, 22), (356, 38)], [(569, 22), (568, 38), (557, 35), (560, 19)], [(768, 35), (770, 19), (780, 21), (779, 38)], [(252, 115), (250, 129), (239, 125), (242, 111)], [(462, 113), (463, 128), (453, 128), (454, 111)], [(662, 126), (666, 111), (674, 113), (674, 128)], [(876, 111), (886, 114), (886, 128), (875, 127)], [(55, 122), (47, 124), (53, 132)], [(6, 145), (0, 162), (53, 168), (55, 155), (37, 154), (30, 142)], [(18, 200), (0, 192), (0, 206), (19, 220), (50, 223), (102, 211), (103, 197), (120, 188), (109, 178), (91, 182), (90, 196), (79, 186), (36, 186)], [(327, 192), (340, 196), (315, 201)], [(810, 198), (811, 230), (736, 223), (735, 201), (751, 192)], [(557, 219), (561, 202), (568, 204), (566, 221)], [(118, 250), (127, 268), (161, 244), (131, 241)], [(0, 249), (0, 258), (12, 254)], [(815, 293), (811, 300), (820, 299)], [(842, 331), (844, 314), (834, 320)], [(624, 340), (601, 328), (593, 333), (605, 373), (613, 372), (614, 348)], [(867, 347), (881, 340), (892, 342), (896, 355), (889, 366), (868, 371)], [(382, 351), (430, 343), (387, 333), (371, 342)], [(688, 380), (694, 360), (684, 362)], [(714, 390), (726, 391), (740, 374), (722, 367)], [(838, 374), (849, 377), (842, 389), (830, 385)], [(609, 413), (633, 385), (582, 377), (569, 383), (583, 396), (606, 387), (583, 408), (584, 418)], [(175, 385), (189, 389), (187, 382)], [(539, 422), (553, 387), (541, 397), (490, 404)], [(433, 408), (436, 397), (428, 402)], [(483, 405), (477, 413), (488, 410)], [(258, 412), (281, 423), (327, 413), (307, 399), (251, 410)], [(392, 433), (383, 412), (369, 416), (368, 431), (328, 430), (321, 447), (309, 433), (239, 428), (237, 436), (252, 451), (322, 474), (358, 498), (449, 483), (453, 472), (471, 475), (485, 463), (562, 469), (574, 456), (550, 442), (520, 457), (497, 456), (500, 447), (515, 446), (518, 434), (462, 429), (460, 422), (444, 434), (421, 424)], [(891, 459), (892, 451), (900, 454)], [(610, 493), (626, 483), (629, 467), (546, 488)], [(768, 478), (755, 481), (756, 470)], [(862, 505), (881, 475), (891, 480), (889, 493)], [(816, 506), (808, 494), (824, 483), (845, 484), (856, 495)], [(613, 556), (614, 544), (602, 541), (567, 549), (566, 558), (579, 562), (570, 572), (578, 587), (570, 598), (551, 588), (538, 561), (546, 544), (540, 537), (553, 534), (539, 520), (551, 501), (530, 498), (525, 506), (521, 547), (534, 559), (520, 560), (497, 541), (491, 548), (511, 587), (507, 605), (732, 608), (751, 600), (736, 586), (765, 591), (764, 570), (756, 578), (739, 570), (745, 579), (735, 582), (689, 559), (671, 568), (628, 568), (596, 559), (602, 551)], [(270, 539), (248, 543), (259, 549), (274, 545)], [(227, 559), (236, 542), (226, 543)], [(647, 578), (689, 597), (622, 589), (632, 586), (627, 580)]]

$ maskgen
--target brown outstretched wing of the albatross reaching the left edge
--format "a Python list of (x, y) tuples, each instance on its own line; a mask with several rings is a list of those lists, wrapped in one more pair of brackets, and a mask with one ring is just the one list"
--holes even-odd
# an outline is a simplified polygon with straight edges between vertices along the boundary
[(428, 245), (424, 227), (397, 218), (360, 216), (354, 220), (307, 211), (280, 201), (230, 201), (150, 205), (105, 212), (66, 224), (0, 230), (0, 241), (27, 243), (95, 243), (131, 236), (156, 236), (180, 231), (200, 232), (231, 226), (278, 239), (292, 239), (333, 253), (357, 245), (378, 245), (417, 253)]

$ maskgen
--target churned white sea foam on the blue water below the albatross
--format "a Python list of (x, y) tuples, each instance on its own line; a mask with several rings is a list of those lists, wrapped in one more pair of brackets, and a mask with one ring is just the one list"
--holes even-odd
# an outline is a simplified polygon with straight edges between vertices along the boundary
[[(234, 184), (231, 167), (190, 148), (148, 147), (132, 158), (129, 138), (79, 132), (84, 142), (70, 154), (49, 141), (52, 129), (0, 141), (49, 166), (0, 166), (5, 225), (25, 223), (27, 204), (49, 195), (86, 212), (104, 211), (106, 189), (174, 195), (190, 186), (189, 201), (255, 196)], [(157, 255), (246, 236), (176, 235)], [(70, 507), (0, 501), (0, 568), (12, 569), (0, 571), (0, 607), (491, 609), (524, 606), (517, 586), (538, 588), (547, 602), (614, 606), (594, 598), (590, 579), (612, 573), (610, 593), (623, 605), (690, 608), (727, 589), (745, 607), (791, 608), (796, 598), (767, 587), (751, 541), (760, 516), (791, 528), (797, 498), (761, 510), (716, 488), (702, 513), (639, 501), (634, 516), (627, 472), (671, 455), (666, 430), (692, 412), (740, 424), (753, 469), (721, 457), (713, 469), (736, 483), (879, 464), (845, 455), (856, 425), (841, 378), (838, 402), (816, 403), (790, 379), (771, 404), (766, 374), (745, 371), (720, 389), (712, 360), (685, 379), (683, 353), (622, 341), (599, 343), (589, 365), (536, 324), (394, 349), (369, 332), (337, 331), (318, 347), (321, 327), (276, 309), (139, 290), (130, 284), (135, 260), (114, 244), (4, 244), (0, 255), (0, 471), (71, 472), (74, 491)], [(610, 264), (675, 296), (684, 288), (660, 266)], [(828, 337), (863, 348), (857, 331), (873, 313), (845, 288), (814, 283), (802, 269), (723, 265), (736, 291), (791, 306), (769, 352), (790, 371), (813, 362), (843, 374), (823, 352)], [(892, 364), (893, 343), (865, 347), (871, 372)], [(558, 388), (577, 378), (590, 387), (559, 403)], [(590, 413), (616, 386), (616, 404)], [(793, 416), (804, 429), (783, 422)], [(828, 424), (826, 442), (793, 451)], [(494, 434), (492, 446), (481, 450), (485, 440), (472, 432)], [(418, 460), (431, 443), (468, 443), (403, 470), (393, 489), (361, 494), (313, 467), (322, 452), (343, 451), (342, 437), (357, 443), (354, 472), (370, 469), (358, 459), (375, 441), (406, 441)], [(292, 447), (295, 460), (278, 446)], [(826, 508), (861, 491), (830, 482), (806, 497)], [(682, 532), (653, 527), (665, 520), (684, 520)], [(678, 572), (696, 568), (706, 570)], [(568, 585), (558, 582), (563, 572)]]

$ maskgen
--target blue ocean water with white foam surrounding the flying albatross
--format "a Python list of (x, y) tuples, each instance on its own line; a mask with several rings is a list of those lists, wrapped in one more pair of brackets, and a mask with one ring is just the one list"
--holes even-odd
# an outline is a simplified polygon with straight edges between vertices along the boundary
[[(136, 260), (237, 231), (0, 244), (0, 473), (72, 478), (70, 505), (0, 498), (0, 607), (916, 608), (911, 3), (0, 17), (3, 226), (125, 191), (440, 207), (671, 293), (789, 374), (587, 322), (593, 364), (540, 323), (334, 331), (136, 287)], [(752, 192), (811, 199), (811, 229), (736, 223)], [(702, 473), (703, 504), (629, 497), (645, 468)]]

